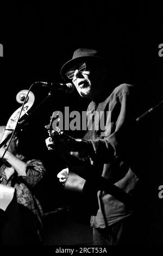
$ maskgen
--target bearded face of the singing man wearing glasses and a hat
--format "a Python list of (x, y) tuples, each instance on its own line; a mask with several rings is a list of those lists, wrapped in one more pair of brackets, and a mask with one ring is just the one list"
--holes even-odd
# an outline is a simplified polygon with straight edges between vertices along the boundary
[(66, 73), (82, 97), (93, 99), (102, 90), (102, 72), (97, 64), (81, 62)]

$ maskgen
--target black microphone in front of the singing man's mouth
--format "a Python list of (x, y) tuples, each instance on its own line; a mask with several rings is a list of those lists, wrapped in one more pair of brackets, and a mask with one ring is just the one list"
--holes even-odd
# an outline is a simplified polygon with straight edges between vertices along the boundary
[(56, 82), (36, 82), (43, 87), (48, 87), (53, 90), (64, 90), (66, 93), (72, 93), (74, 90), (74, 86), (72, 83), (56, 83)]

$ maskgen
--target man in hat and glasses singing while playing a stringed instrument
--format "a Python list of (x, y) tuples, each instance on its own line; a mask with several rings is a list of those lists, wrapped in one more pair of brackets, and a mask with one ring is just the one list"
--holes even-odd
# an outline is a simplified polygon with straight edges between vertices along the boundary
[[(108, 187), (107, 183), (98, 187), (98, 209), (91, 217), (94, 245), (131, 245), (138, 243), (133, 202), (139, 178), (131, 168), (136, 149), (134, 86), (114, 84), (110, 66), (98, 51), (86, 48), (76, 50), (62, 66), (62, 78), (72, 82), (80, 96), (91, 100), (87, 118), (94, 117), (84, 139), (60, 133), (58, 143), (70, 154), (84, 154), (95, 176), (108, 182)], [(104, 129), (97, 121), (99, 112), (108, 113)], [(55, 141), (48, 138), (46, 144), (53, 149)], [(68, 168), (58, 174), (60, 182), (67, 176)]]

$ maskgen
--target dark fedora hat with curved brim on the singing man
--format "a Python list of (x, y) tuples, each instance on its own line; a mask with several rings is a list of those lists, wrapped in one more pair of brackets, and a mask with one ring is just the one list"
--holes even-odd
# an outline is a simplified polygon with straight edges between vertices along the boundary
[(62, 66), (60, 70), (61, 77), (64, 78), (65, 81), (70, 81), (69, 78), (65, 75), (66, 72), (73, 68), (74, 65), (84, 60), (93, 60), (93, 62), (97, 60), (98, 62), (103, 62), (106, 64), (106, 59), (102, 57), (97, 50), (79, 48), (74, 51), (72, 59), (68, 60), (68, 62)]

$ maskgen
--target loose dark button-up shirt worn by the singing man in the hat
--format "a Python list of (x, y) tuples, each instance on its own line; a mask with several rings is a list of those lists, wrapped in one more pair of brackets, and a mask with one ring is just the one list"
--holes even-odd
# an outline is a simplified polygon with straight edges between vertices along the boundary
[[(91, 102), (87, 108), (87, 119), (92, 119), (92, 127), (85, 139), (91, 148), (95, 172), (109, 180), (116, 187), (134, 196), (138, 178), (131, 165), (136, 141), (134, 86), (121, 84), (103, 102)], [(105, 125), (100, 123), (99, 113), (105, 113)], [(102, 126), (102, 127), (101, 127)], [(89, 127), (89, 121), (88, 121)], [(133, 209), (116, 198), (114, 193), (99, 190), (99, 209), (92, 216), (92, 226), (105, 228), (133, 213)]]

